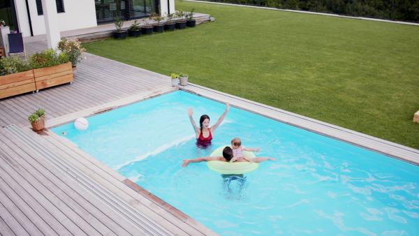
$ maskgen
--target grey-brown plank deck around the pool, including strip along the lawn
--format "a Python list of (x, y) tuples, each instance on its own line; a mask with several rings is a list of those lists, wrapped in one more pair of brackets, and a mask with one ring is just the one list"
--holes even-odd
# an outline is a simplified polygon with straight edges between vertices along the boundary
[[(46, 49), (43, 40), (27, 50)], [(47, 128), (175, 91), (168, 76), (87, 54), (73, 84), (0, 99), (0, 235), (216, 235)], [(214, 101), (419, 164), (419, 150), (189, 84)]]

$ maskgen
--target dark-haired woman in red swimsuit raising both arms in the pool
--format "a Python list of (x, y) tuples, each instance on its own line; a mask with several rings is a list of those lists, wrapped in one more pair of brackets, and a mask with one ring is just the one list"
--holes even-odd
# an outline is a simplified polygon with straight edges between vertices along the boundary
[(223, 115), (210, 127), (210, 117), (208, 115), (202, 115), (199, 119), (200, 127), (196, 125), (195, 121), (192, 118), (193, 109), (188, 109), (189, 119), (191, 120), (191, 124), (193, 130), (196, 134), (196, 145), (199, 148), (205, 149), (211, 145), (212, 140), (212, 133), (214, 133), (215, 129), (221, 124), (224, 117), (226, 117), (228, 110), (230, 109), (230, 103), (226, 103), (226, 110), (224, 111)]

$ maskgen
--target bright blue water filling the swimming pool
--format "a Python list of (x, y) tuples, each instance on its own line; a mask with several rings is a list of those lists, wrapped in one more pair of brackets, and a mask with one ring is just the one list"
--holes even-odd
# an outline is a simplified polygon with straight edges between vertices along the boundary
[[(198, 149), (189, 107), (197, 124), (226, 108), (176, 91), (52, 131), (220, 235), (419, 235), (418, 166), (236, 108)], [(180, 166), (236, 137), (278, 161), (244, 179)]]

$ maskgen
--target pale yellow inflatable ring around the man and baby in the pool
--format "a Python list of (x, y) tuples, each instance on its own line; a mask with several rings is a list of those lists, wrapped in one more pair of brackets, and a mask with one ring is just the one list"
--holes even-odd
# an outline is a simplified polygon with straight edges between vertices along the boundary
[[(230, 145), (221, 146), (212, 152), (210, 156), (223, 156), (223, 149)], [(249, 156), (250, 158), (254, 158), (255, 154), (253, 152), (243, 151), (243, 155)], [(247, 172), (251, 172), (258, 168), (258, 163), (250, 163), (250, 162), (225, 162), (225, 161), (207, 161), (207, 166), (211, 170), (218, 172), (224, 175), (231, 175), (231, 174), (243, 174)]]

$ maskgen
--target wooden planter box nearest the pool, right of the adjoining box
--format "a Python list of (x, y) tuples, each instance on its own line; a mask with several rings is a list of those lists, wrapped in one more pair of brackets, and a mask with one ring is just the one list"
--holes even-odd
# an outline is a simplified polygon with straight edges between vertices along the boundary
[(34, 69), (36, 90), (73, 82), (71, 62), (58, 66)]

